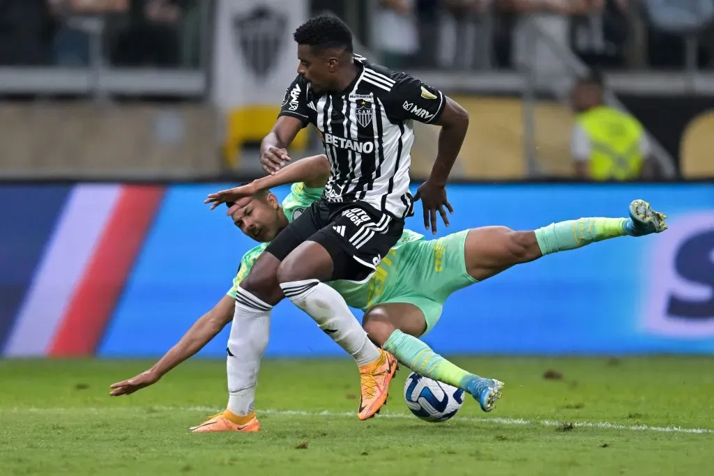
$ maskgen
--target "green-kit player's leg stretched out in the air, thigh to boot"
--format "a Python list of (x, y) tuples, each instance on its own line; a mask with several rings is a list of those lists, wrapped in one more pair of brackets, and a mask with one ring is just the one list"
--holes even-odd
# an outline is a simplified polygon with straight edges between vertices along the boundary
[(643, 200), (630, 203), (629, 218), (580, 218), (552, 223), (535, 231), (513, 231), (505, 226), (474, 228), (466, 237), (466, 268), (483, 281), (513, 265), (543, 255), (574, 250), (620, 236), (645, 236), (667, 229), (662, 213)]

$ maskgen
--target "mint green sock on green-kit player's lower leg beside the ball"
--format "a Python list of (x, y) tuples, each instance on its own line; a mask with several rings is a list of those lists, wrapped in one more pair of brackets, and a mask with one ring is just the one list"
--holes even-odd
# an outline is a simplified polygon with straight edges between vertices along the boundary
[(461, 390), (468, 391), (466, 385), (474, 378), (478, 378), (478, 375), (468, 373), (441, 357), (421, 340), (398, 329), (389, 336), (382, 347), (418, 375), (448, 383)]

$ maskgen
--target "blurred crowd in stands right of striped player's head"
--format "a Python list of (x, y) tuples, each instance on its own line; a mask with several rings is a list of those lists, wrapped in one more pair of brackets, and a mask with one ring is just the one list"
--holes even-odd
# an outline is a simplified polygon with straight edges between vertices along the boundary
[(605, 69), (714, 66), (714, 0), (374, 0), (374, 49), (391, 66), (512, 69), (537, 25)]

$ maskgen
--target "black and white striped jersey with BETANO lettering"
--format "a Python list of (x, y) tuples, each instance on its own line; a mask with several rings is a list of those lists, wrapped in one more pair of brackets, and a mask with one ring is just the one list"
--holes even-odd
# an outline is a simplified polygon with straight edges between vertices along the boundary
[(342, 93), (316, 96), (298, 75), (286, 90), (280, 116), (320, 132), (332, 166), (323, 198), (365, 201), (397, 218), (411, 216), (413, 121), (437, 121), (446, 98), (408, 74), (358, 55), (354, 61), (361, 73)]

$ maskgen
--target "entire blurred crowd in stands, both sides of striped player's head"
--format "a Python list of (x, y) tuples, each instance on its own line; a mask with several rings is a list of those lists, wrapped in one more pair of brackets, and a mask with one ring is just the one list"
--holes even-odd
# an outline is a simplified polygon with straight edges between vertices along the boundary
[[(240, 1), (240, 0), (235, 0)], [(324, 2), (323, 2), (324, 3)], [(335, 2), (339, 4), (340, 2)], [(195, 68), (211, 0), (1, 0), (0, 66)], [(714, 67), (714, 0), (363, 0), (362, 43), (393, 68), (514, 69), (528, 29), (590, 66)], [(355, 25), (353, 25), (353, 28)], [(205, 31), (202, 31), (205, 30)]]

